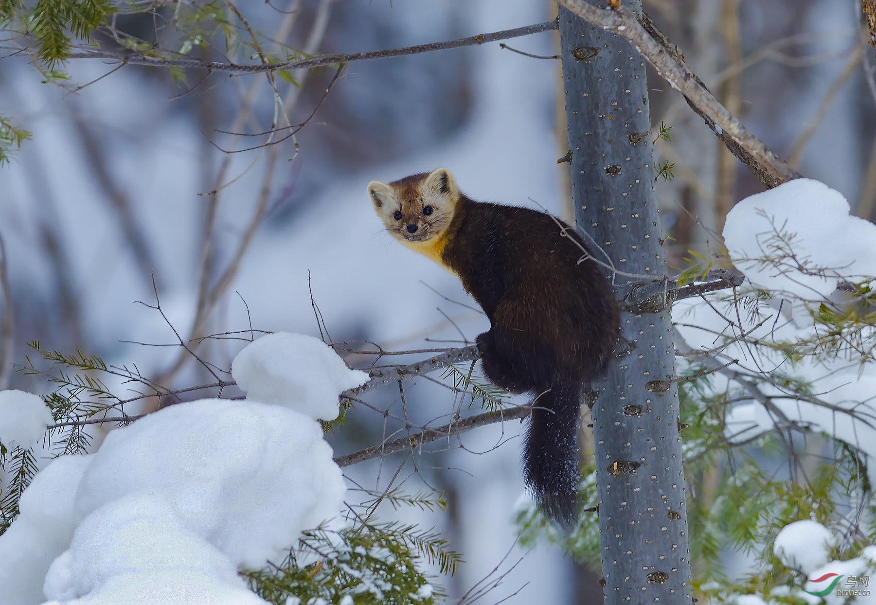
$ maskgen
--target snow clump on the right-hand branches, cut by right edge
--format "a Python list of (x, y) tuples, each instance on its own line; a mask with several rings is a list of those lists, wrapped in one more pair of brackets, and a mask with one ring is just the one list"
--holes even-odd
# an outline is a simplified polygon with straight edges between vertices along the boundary
[[(779, 254), (771, 242), (776, 232), (794, 236), (796, 262), (752, 260)], [(827, 296), (841, 278), (876, 276), (876, 225), (849, 215), (843, 194), (813, 179), (790, 180), (740, 201), (727, 214), (724, 243), (753, 284), (802, 299)], [(809, 274), (818, 269), (825, 275)]]

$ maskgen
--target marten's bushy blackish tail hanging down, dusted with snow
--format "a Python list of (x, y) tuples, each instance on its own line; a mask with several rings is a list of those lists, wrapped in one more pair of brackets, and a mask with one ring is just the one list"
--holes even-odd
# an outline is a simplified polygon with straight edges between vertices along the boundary
[(536, 397), (523, 449), (524, 478), (535, 502), (566, 525), (578, 513), (580, 394), (580, 387), (554, 387)]

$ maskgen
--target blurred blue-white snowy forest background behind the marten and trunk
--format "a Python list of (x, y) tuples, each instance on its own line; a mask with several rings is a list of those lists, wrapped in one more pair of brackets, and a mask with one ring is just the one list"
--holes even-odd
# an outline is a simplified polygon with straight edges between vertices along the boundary
[[(135, 4), (153, 10), (119, 15), (117, 35), (223, 59), (204, 56), (198, 39), (168, 25), (173, 3)], [(224, 4), (194, 4), (221, 11), (237, 23), (233, 35), (242, 35)], [(271, 0), (238, 8), (277, 46), (266, 52), (279, 54), (284, 46), (332, 53), (455, 39), (547, 21), (556, 11), (547, 0)], [(856, 2), (646, 0), (644, 8), (733, 115), (872, 220), (876, 60)], [(202, 35), (218, 40), (227, 32)], [(96, 39), (120, 46), (106, 33)], [(466, 300), (456, 278), (382, 232), (365, 185), (446, 166), (476, 199), (541, 206), (569, 219), (567, 165), (557, 163), (567, 148), (560, 66), (549, 59), (557, 34), (506, 42), (548, 59), (493, 43), (353, 62), (333, 84), (331, 67), (289, 74), (294, 85), (276, 81), (276, 95), (290, 122), (319, 109), (295, 137), (270, 146), (262, 145), (265, 136), (235, 134), (264, 133), (277, 120), (278, 97), (264, 75), (204, 77), (72, 60), (69, 80), (46, 84), (25, 57), (4, 57), (0, 113), (33, 134), (0, 167), (13, 361), (24, 363), (25, 343), (39, 340), (136, 363), (166, 386), (209, 382), (206, 370), (180, 355), (161, 314), (134, 303), (154, 303), (153, 278), (163, 312), (184, 338), (250, 327), (319, 335), (312, 296), (328, 338), (350, 342), (351, 350), (371, 346), (365, 342), (399, 350), (473, 340), (484, 317), (454, 302)], [(672, 136), (655, 147), (654, 164), (674, 175), (655, 185), (664, 245), (669, 263), (681, 267), (689, 250), (719, 249), (714, 234), (727, 210), (761, 186), (680, 95), (656, 76), (651, 82), (653, 132), (663, 123)], [(227, 367), (241, 345), (213, 338), (199, 351)], [(371, 361), (347, 359), (357, 367)], [(45, 385), (18, 373), (11, 386)], [(387, 389), (378, 397), (385, 407), (400, 405), (398, 395)], [(451, 398), (422, 381), (408, 393), (406, 412), (432, 419), (452, 409)], [(430, 466), (408, 480), (408, 490), (422, 481), (446, 492), (449, 514), (402, 514), (438, 524), (463, 552), (466, 565), (446, 582), (451, 596), (524, 553), (513, 524), (523, 490), (520, 427), (506, 424), (467, 433), (463, 448), (430, 456), (423, 461)], [(381, 415), (362, 410), (329, 440), (343, 454), (377, 443), (384, 431)], [(95, 442), (102, 438), (92, 433)], [(373, 481), (380, 464), (348, 468), (348, 476)], [(540, 548), (501, 590), (523, 587), (509, 603), (594, 602), (597, 577), (559, 550)]]

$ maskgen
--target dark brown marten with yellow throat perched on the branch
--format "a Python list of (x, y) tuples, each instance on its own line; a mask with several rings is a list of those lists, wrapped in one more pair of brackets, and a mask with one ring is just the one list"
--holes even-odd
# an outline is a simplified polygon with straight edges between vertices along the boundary
[(550, 215), (471, 200), (445, 168), (372, 181), (368, 193), (386, 230), (455, 273), (484, 309), (484, 376), (535, 396), (526, 485), (541, 510), (571, 523), (582, 390), (604, 371), (618, 334), (618, 303), (586, 244)]

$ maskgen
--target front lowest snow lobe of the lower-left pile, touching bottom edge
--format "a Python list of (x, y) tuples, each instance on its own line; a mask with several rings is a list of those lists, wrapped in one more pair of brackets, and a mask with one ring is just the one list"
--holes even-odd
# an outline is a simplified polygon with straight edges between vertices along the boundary
[(75, 603), (265, 603), (231, 561), (187, 529), (164, 496), (120, 498), (79, 524), (54, 560), (46, 597)]

